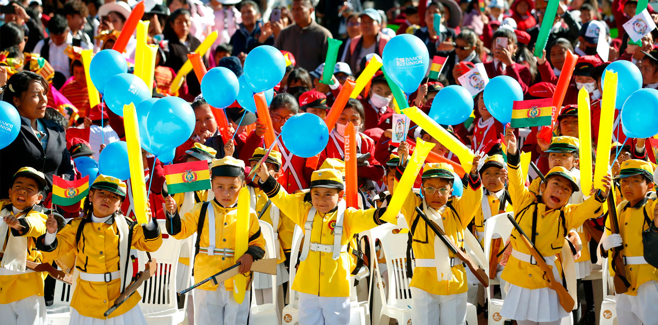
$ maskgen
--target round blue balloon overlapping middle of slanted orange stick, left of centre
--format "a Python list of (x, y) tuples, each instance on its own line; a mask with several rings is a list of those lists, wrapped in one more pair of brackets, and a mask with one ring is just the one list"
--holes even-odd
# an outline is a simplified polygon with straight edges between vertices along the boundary
[(224, 108), (238, 97), (238, 77), (224, 67), (212, 68), (201, 79), (201, 93), (210, 106)]

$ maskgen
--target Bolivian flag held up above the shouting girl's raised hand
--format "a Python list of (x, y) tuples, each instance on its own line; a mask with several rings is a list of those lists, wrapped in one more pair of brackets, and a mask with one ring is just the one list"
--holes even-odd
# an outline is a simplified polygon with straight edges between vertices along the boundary
[(511, 127), (551, 125), (553, 98), (515, 100), (512, 106)]

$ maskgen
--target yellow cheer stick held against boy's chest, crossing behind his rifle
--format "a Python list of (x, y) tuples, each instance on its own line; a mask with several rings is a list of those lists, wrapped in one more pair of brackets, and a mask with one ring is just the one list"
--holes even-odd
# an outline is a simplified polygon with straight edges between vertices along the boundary
[[(249, 219), (250, 219), (250, 202), (249, 190), (246, 186), (240, 189), (238, 194), (238, 220), (236, 221), (236, 251), (234, 253), (236, 261), (247, 252), (249, 245)], [(238, 303), (245, 299), (245, 290), (247, 290), (247, 276), (238, 274), (233, 277), (233, 297)]]

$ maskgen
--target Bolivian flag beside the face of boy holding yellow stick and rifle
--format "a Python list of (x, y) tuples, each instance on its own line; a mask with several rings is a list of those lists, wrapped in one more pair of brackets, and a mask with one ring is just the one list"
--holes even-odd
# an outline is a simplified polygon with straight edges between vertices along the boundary
[(165, 165), (164, 178), (169, 194), (211, 188), (210, 169), (205, 160)]

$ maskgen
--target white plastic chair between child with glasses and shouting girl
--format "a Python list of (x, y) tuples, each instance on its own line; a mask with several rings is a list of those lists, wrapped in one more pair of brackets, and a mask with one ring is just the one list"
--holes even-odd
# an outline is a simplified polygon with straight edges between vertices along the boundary
[[(492, 243), (493, 235), (499, 234), (504, 241), (507, 241), (507, 238), (509, 238), (509, 235), (512, 233), (512, 229), (514, 228), (514, 226), (507, 219), (507, 215), (514, 215), (514, 213), (505, 212), (499, 215), (494, 215), (493, 217), (487, 219), (486, 222), (484, 223), (484, 240), (483, 240), (484, 256), (486, 256), (487, 260), (491, 256), (491, 243)], [(487, 276), (489, 276), (490, 275), (489, 267), (485, 267), (484, 270), (487, 272)], [(500, 282), (497, 279), (492, 280), (490, 278), (489, 280), (490, 288), (495, 284), (500, 284)], [(500, 311), (503, 308), (503, 299), (492, 298), (490, 288), (488, 288), (488, 290), (485, 290), (487, 295), (488, 311), (489, 311), (488, 324), (503, 325), (505, 323), (505, 320), (507, 320), (507, 318), (503, 318), (503, 316), (501, 316), (500, 314)], [(501, 292), (503, 290), (504, 288), (501, 288)]]

